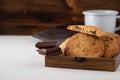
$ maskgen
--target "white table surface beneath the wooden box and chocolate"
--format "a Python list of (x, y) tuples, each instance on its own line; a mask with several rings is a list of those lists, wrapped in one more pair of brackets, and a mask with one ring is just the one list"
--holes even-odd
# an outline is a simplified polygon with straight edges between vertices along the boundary
[(32, 36), (0, 35), (0, 80), (120, 80), (115, 72), (45, 67)]

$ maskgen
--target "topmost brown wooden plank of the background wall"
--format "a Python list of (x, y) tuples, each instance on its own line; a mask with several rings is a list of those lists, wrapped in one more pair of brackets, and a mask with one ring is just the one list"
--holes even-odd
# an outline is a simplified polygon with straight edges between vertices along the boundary
[(79, 13), (87, 9), (115, 9), (120, 11), (119, 4), (120, 0), (0, 0), (0, 10), (65, 11), (68, 8), (76, 8)]

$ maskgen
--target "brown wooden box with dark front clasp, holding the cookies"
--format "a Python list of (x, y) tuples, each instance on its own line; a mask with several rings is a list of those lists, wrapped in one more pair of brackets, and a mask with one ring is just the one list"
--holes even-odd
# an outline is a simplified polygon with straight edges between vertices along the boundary
[(114, 58), (45, 56), (46, 67), (116, 71), (119, 64), (120, 64), (120, 54), (118, 54)]

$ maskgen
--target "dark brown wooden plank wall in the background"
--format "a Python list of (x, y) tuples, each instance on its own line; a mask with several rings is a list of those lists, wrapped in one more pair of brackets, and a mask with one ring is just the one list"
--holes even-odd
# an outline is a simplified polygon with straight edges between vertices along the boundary
[(83, 24), (81, 12), (89, 9), (120, 12), (120, 0), (0, 0), (0, 34), (31, 35), (51, 27)]

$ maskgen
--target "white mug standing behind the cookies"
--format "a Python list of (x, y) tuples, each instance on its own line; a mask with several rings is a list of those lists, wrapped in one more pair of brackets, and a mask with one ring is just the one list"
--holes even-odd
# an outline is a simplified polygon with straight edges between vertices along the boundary
[(115, 10), (86, 10), (83, 11), (85, 25), (100, 27), (105, 32), (115, 32), (116, 19), (119, 12)]

